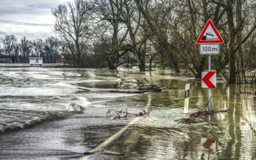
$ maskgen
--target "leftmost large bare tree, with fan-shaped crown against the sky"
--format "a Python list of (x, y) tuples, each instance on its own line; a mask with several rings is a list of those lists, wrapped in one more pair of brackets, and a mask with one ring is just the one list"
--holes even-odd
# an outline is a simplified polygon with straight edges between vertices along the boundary
[(59, 5), (52, 10), (56, 18), (54, 29), (68, 46), (77, 67), (82, 67), (82, 54), (85, 54), (86, 48), (83, 45), (88, 40), (91, 9), (87, 1), (75, 0), (73, 4), (68, 2), (68, 7)]

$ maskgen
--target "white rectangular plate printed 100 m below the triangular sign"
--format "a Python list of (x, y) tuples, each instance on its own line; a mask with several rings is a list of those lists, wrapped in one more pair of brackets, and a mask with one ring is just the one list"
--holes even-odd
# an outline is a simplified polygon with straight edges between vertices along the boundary
[(200, 55), (219, 55), (219, 44), (200, 44)]

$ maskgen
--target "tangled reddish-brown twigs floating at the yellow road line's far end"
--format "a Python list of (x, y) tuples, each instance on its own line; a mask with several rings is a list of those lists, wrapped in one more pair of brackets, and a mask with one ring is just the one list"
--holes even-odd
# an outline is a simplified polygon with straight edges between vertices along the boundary
[(144, 115), (148, 115), (149, 112), (146, 112), (145, 110), (142, 110), (139, 113), (129, 113), (128, 109), (121, 109), (121, 110), (115, 110), (115, 109), (108, 109), (107, 111), (107, 118), (111, 118), (114, 117), (113, 119), (120, 119), (120, 118), (128, 118), (128, 117), (140, 117), (140, 116), (144, 116)]

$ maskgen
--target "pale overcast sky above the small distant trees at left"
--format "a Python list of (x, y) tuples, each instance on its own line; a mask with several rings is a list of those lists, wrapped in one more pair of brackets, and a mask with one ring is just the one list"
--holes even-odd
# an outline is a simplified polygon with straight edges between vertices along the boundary
[(52, 8), (69, 0), (0, 0), (0, 36), (14, 34), (18, 39), (54, 35)]

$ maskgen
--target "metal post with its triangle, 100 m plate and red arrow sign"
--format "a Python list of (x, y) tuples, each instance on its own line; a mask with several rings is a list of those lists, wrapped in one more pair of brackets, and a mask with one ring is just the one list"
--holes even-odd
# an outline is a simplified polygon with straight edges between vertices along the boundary
[(223, 39), (209, 19), (196, 44), (200, 44), (200, 55), (208, 55), (208, 72), (202, 72), (202, 88), (208, 88), (208, 109), (211, 110), (211, 88), (216, 88), (216, 72), (211, 71), (211, 55), (219, 55), (219, 44)]

